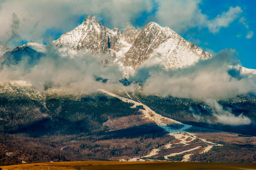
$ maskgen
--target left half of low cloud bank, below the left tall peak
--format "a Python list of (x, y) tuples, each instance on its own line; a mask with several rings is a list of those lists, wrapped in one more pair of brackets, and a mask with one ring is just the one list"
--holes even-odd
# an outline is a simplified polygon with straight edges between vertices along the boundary
[[(116, 65), (104, 65), (101, 60), (110, 55), (95, 56), (90, 53), (58, 51), (53, 45), (47, 45), (46, 55), (36, 64), (29, 63), (31, 56), (24, 55), (17, 65), (4, 65), (0, 71), (1, 83), (22, 79), (39, 91), (45, 90), (49, 82), (53, 88), (63, 89), (70, 93), (90, 94), (99, 88), (124, 89), (117, 83), (122, 79), (122, 72)], [(33, 56), (32, 56), (33, 57)], [(95, 80), (95, 76), (108, 79), (106, 84)]]

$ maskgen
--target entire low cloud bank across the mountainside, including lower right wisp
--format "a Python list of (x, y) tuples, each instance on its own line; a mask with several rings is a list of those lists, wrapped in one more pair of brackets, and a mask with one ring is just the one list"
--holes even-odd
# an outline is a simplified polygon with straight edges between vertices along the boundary
[[(161, 57), (156, 55), (145, 61), (128, 78), (133, 84), (123, 86), (119, 83), (123, 79), (123, 70), (116, 64), (104, 65), (101, 62), (102, 59), (111, 58), (109, 54), (95, 56), (90, 53), (74, 53), (57, 49), (49, 43), (46, 55), (36, 64), (29, 64), (29, 57), (33, 56), (24, 55), (17, 65), (2, 65), (0, 83), (21, 79), (41, 92), (50, 88), (62, 89), (62, 92), (69, 94), (87, 95), (101, 88), (133, 91), (139, 81), (146, 94), (201, 100), (209, 106), (217, 122), (224, 125), (248, 125), (252, 122), (249, 118), (242, 114), (233, 115), (231, 109), (223, 109), (216, 101), (247, 93), (256, 94), (256, 77), (240, 74), (235, 54), (235, 50), (223, 50), (210, 59), (177, 70), (167, 70), (162, 65), (154, 64), (154, 57)], [(95, 76), (108, 81), (96, 81)], [(194, 116), (201, 119), (198, 115)]]

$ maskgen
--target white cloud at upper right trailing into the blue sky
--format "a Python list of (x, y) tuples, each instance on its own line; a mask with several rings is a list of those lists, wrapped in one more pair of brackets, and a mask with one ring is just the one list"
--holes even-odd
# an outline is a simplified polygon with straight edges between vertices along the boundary
[(158, 2), (159, 7), (155, 20), (160, 25), (173, 28), (177, 32), (186, 31), (188, 28), (199, 27), (209, 28), (211, 33), (217, 33), (220, 28), (228, 27), (242, 13), (240, 7), (230, 7), (227, 12), (223, 12), (212, 20), (209, 20), (209, 16), (203, 14), (199, 8), (201, 2), (199, 0), (161, 0)]

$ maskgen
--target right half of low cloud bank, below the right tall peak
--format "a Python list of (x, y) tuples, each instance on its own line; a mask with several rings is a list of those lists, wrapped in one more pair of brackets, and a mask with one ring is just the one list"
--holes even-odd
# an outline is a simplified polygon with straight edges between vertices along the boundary
[(232, 68), (239, 64), (234, 58), (235, 54), (234, 50), (223, 50), (210, 59), (177, 70), (152, 65), (151, 59), (148, 59), (132, 79), (143, 80), (146, 93), (179, 98), (226, 99), (256, 93), (255, 79), (240, 75), (239, 70)]

